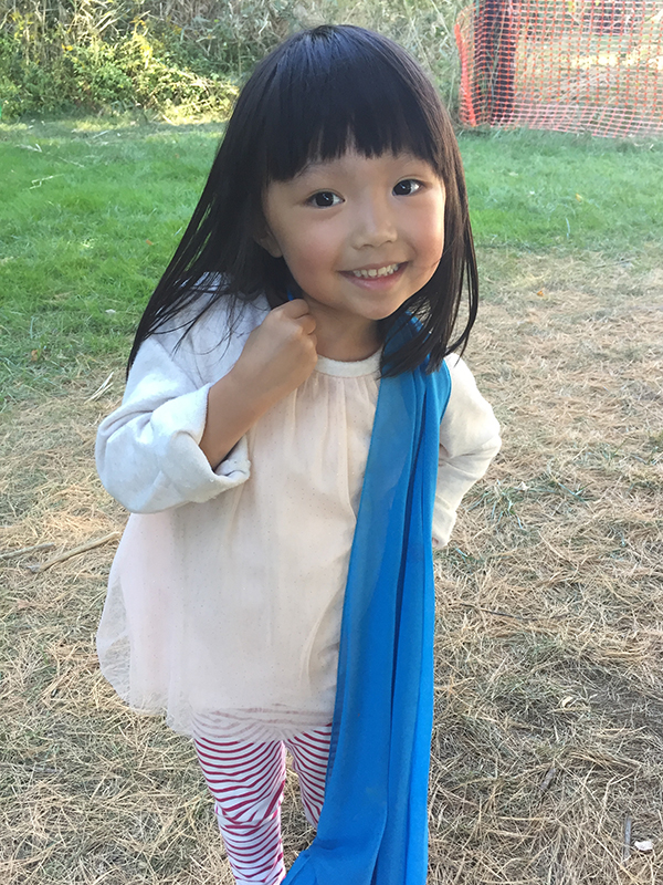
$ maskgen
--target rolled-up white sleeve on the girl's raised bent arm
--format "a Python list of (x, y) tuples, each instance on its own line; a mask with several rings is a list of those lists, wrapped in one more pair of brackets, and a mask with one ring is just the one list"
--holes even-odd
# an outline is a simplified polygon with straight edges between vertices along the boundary
[(171, 345), (172, 335), (141, 344), (123, 403), (97, 433), (102, 483), (134, 513), (208, 501), (250, 475), (245, 439), (215, 470), (210, 467), (198, 444), (211, 383), (201, 383), (187, 347)]

